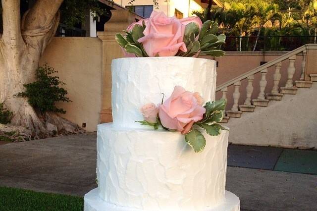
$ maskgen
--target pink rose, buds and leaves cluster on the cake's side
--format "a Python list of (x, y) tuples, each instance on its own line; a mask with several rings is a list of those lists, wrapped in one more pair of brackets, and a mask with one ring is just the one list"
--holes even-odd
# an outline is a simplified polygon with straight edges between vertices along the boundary
[(149, 103), (141, 108), (144, 120), (137, 121), (143, 125), (159, 125), (165, 130), (179, 131), (185, 135), (185, 140), (195, 152), (202, 152), (206, 139), (199, 128), (207, 134), (217, 136), (220, 130), (227, 130), (219, 122), (223, 118), (226, 101), (207, 102), (203, 106), (203, 98), (199, 93), (186, 91), (181, 86), (175, 86), (172, 95), (159, 106)]

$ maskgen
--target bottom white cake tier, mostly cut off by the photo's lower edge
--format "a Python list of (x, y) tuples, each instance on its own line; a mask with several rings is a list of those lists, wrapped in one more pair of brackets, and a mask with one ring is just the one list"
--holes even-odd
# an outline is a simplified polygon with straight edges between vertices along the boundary
[[(84, 201), (84, 211), (144, 211), (134, 208), (120, 207), (107, 203), (99, 198), (98, 188), (87, 193), (84, 197)], [(225, 196), (222, 203), (213, 208), (206, 208), (204, 211), (240, 211), (240, 200), (233, 193), (225, 191)]]

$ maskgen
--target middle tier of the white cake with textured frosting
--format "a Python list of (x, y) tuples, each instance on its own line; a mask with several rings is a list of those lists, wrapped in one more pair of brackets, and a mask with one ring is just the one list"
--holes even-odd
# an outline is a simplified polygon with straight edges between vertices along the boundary
[(197, 154), (178, 132), (99, 125), (99, 196), (147, 211), (204, 211), (221, 204), (228, 132), (204, 135), (206, 148)]

